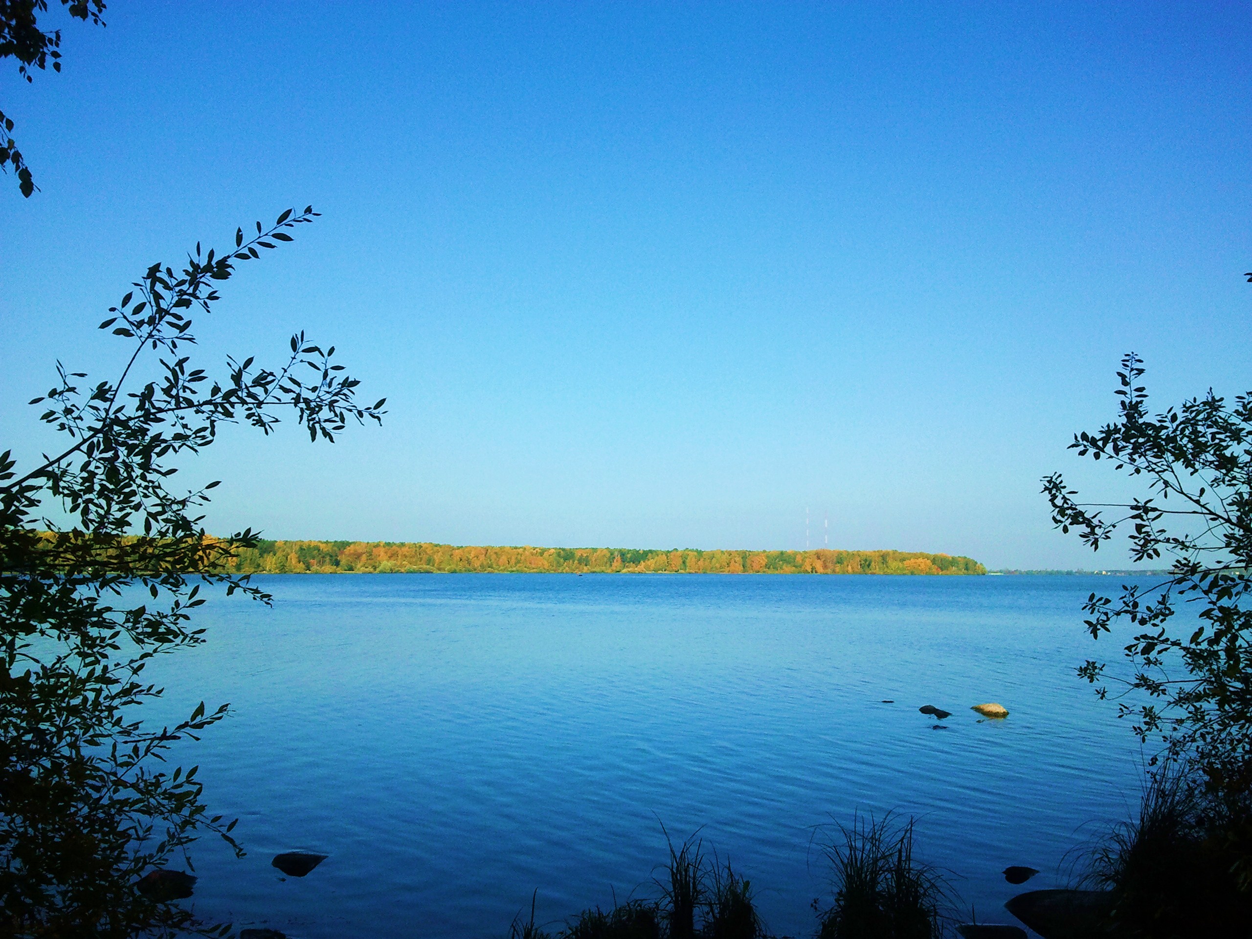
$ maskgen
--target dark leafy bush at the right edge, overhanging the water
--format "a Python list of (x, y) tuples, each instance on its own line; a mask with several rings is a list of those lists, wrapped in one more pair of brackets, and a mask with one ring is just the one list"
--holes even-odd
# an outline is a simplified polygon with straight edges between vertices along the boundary
[[(1092, 593), (1084, 610), (1093, 639), (1118, 622), (1133, 630), (1124, 647), (1129, 676), (1106, 677), (1087, 661), (1079, 675), (1121, 681), (1119, 712), (1147, 741), (1186, 759), (1211, 791), (1247, 803), (1252, 791), (1252, 396), (1233, 403), (1209, 391), (1152, 417), (1129, 354), (1118, 373), (1119, 419), (1079, 433), (1070, 449), (1106, 461), (1142, 485), (1119, 503), (1080, 503), (1059, 473), (1044, 478), (1053, 522), (1075, 530), (1093, 551), (1129, 535), (1131, 558), (1172, 566), (1149, 586), (1123, 585), (1118, 600)], [(1109, 521), (1103, 512), (1114, 510)], [(1183, 613), (1193, 612), (1193, 616)], [(1119, 695), (1118, 697), (1122, 697)], [(1154, 760), (1156, 757), (1153, 757)]]

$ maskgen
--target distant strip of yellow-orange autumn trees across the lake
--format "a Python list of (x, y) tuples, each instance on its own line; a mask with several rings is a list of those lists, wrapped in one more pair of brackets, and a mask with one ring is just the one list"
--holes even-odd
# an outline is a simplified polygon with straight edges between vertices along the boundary
[(987, 573), (969, 557), (920, 551), (649, 551), (458, 547), (427, 542), (258, 541), (232, 573)]

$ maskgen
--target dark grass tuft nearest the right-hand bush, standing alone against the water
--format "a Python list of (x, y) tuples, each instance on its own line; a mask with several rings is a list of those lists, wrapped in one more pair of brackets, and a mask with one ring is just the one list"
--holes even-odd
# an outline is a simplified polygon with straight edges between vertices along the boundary
[(835, 900), (819, 911), (820, 939), (935, 939), (945, 933), (943, 876), (913, 856), (914, 820), (858, 815), (839, 825), (840, 840), (823, 854)]

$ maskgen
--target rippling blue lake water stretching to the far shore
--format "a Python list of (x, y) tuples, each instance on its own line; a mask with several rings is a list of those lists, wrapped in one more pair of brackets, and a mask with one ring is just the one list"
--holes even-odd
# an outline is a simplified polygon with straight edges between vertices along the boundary
[[(729, 856), (775, 933), (809, 935), (829, 826), (888, 810), (919, 818), (967, 911), (1012, 921), (998, 871), (1062, 885), (1138, 793), (1129, 726), (1073, 674), (1117, 655), (1082, 629), (1109, 577), (257, 582), (272, 608), (210, 602), (208, 645), (162, 665), (172, 706), (233, 706), (180, 756), (239, 818), (244, 860), (193, 854), (197, 910), (237, 926), (502, 936), (536, 890), (558, 925), (655, 896), (664, 823)], [(283, 879), (270, 858), (297, 849), (331, 856)]]

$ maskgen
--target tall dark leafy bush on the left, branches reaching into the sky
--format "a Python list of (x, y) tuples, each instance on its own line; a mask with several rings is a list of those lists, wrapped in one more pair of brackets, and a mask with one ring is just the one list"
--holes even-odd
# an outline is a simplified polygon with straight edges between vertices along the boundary
[[(268, 229), (175, 272), (153, 264), (100, 324), (125, 339), (116, 381), (94, 384), (58, 366), (43, 421), (69, 437), (30, 470), (0, 456), (0, 931), (18, 936), (129, 936), (190, 928), (189, 913), (134, 888), (173, 863), (198, 833), (234, 844), (234, 823), (209, 815), (195, 767), (163, 766), (172, 745), (227, 714), (202, 702), (159, 730), (135, 709), (160, 697), (145, 667), (204, 641), (190, 625), (202, 587), (267, 595), (228, 572), (245, 530), (210, 538), (198, 510), (208, 491), (175, 492), (173, 463), (210, 446), (219, 426), (269, 433), (289, 411), (310, 438), (333, 441), (361, 407), (358, 382), (295, 336), (275, 371), (228, 359), (210, 378), (193, 367), (193, 310), (210, 312), (217, 285), (258, 249), (292, 240), (310, 222), (284, 212)], [(153, 361), (155, 359), (155, 361)], [(299, 369), (299, 371), (298, 371)], [(146, 371), (148, 378), (140, 376)], [(312, 376), (308, 376), (312, 371)], [(60, 506), (69, 521), (43, 517)]]

